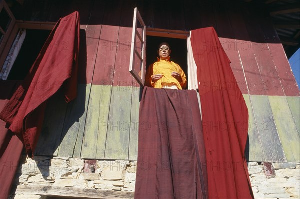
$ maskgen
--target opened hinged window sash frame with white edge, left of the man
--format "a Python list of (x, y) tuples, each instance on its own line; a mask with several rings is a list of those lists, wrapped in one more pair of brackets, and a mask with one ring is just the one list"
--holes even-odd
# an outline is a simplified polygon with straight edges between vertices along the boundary
[[(142, 35), (139, 35), (139, 32), (137, 31), (137, 20), (142, 25)], [(142, 41), (142, 50), (141, 55), (135, 50), (136, 48), (136, 35), (138, 35), (139, 39)], [(144, 86), (145, 83), (145, 76), (146, 76), (146, 25), (144, 21), (141, 18), (141, 15), (139, 14), (139, 11), (137, 10), (137, 7), (134, 9), (134, 16), (133, 16), (133, 27), (132, 27), (132, 41), (131, 41), (131, 52), (130, 52), (130, 64), (129, 64), (129, 72), (133, 75), (133, 77), (136, 79), (136, 81), (141, 85)], [(141, 60), (141, 77), (139, 76), (138, 72), (135, 71), (133, 64), (135, 60), (135, 53), (137, 53), (139, 56), (139, 59)]]

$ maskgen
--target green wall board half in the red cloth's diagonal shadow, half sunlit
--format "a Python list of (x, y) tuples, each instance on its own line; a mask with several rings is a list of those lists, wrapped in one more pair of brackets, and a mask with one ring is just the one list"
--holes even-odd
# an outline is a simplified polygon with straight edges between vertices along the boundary
[(58, 156), (80, 157), (91, 84), (78, 84), (77, 97), (69, 103)]

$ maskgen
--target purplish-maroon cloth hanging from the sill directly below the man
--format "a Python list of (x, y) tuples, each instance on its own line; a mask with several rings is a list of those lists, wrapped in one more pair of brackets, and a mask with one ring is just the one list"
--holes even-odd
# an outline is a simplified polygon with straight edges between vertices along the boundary
[(195, 90), (144, 87), (136, 199), (206, 199), (207, 172)]

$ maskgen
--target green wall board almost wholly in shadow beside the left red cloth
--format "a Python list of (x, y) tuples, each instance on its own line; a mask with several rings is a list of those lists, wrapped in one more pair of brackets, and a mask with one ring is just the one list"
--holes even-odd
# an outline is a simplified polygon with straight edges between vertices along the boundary
[(35, 155), (57, 156), (66, 108), (67, 103), (62, 92), (49, 99)]

